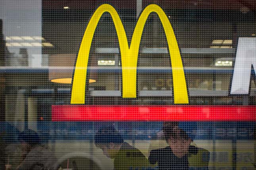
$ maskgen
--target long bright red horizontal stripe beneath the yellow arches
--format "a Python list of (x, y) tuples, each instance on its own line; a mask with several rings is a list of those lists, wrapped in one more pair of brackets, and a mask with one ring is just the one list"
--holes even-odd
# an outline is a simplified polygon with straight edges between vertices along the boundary
[(256, 121), (256, 106), (52, 105), (52, 121)]

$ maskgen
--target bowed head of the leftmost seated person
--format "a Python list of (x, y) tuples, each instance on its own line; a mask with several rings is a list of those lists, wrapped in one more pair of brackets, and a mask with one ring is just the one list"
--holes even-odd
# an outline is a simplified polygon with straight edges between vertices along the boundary
[(27, 129), (19, 134), (19, 141), (23, 150), (28, 150), (40, 144), (37, 132)]

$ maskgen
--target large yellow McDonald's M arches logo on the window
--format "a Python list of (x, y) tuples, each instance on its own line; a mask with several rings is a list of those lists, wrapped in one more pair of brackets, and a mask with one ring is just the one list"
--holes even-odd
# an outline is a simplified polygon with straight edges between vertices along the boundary
[(179, 53), (179, 47), (177, 44), (177, 40), (175, 38), (175, 34), (171, 27), (171, 23), (169, 22), (169, 19), (162, 10), (162, 8), (155, 4), (151, 4), (143, 10), (141, 16), (139, 17), (137, 25), (135, 26), (133, 37), (131, 40), (131, 45), (129, 48), (126, 33), (117, 11), (115, 11), (115, 9), (112, 6), (108, 4), (103, 4), (98, 9), (96, 9), (94, 14), (92, 15), (80, 45), (75, 67), (75, 73), (73, 77), (71, 104), (85, 103), (85, 79), (87, 73), (90, 46), (94, 35), (94, 31), (96, 29), (96, 26), (98, 25), (98, 21), (100, 20), (100, 17), (104, 12), (108, 12), (112, 16), (119, 40), (122, 62), (123, 98), (136, 98), (137, 60), (141, 36), (148, 15), (151, 12), (156, 12), (164, 27), (169, 47), (173, 73), (174, 103), (189, 103), (187, 85), (185, 81), (181, 55)]

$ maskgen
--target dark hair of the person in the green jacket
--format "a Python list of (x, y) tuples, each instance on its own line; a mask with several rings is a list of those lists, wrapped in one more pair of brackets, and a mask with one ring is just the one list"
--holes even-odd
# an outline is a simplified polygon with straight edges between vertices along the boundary
[(108, 144), (108, 143), (123, 143), (123, 137), (121, 134), (115, 130), (114, 127), (104, 127), (98, 130), (95, 134), (95, 145), (99, 146), (100, 144)]

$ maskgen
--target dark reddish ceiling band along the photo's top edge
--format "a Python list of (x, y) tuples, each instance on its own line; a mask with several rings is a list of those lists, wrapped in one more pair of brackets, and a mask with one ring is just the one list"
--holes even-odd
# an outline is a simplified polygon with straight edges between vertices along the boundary
[[(120, 0), (108, 0), (107, 3), (115, 8), (136, 9), (137, 0), (129, 0), (129, 3)], [(99, 4), (106, 3), (106, 0), (42, 0), (43, 8), (70, 8), (87, 9), (96, 8)], [(255, 0), (142, 0), (142, 6), (158, 4), (166, 9), (256, 9)]]

